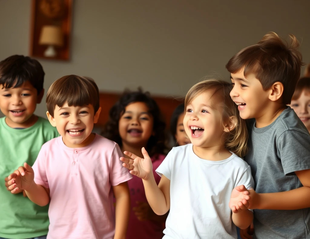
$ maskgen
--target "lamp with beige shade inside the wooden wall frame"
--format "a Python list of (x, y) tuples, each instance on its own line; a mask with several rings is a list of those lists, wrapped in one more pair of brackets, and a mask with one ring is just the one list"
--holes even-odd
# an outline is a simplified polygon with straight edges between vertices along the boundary
[(44, 56), (55, 57), (57, 52), (55, 46), (63, 46), (64, 36), (60, 26), (55, 25), (45, 25), (41, 29), (40, 45), (47, 45), (46, 51), (44, 51)]

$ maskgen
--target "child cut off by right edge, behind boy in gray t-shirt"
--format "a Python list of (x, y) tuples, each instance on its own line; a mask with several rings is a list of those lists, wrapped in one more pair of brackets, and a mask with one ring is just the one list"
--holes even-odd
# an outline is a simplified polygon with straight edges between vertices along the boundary
[(299, 79), (289, 106), (310, 132), (310, 77)]

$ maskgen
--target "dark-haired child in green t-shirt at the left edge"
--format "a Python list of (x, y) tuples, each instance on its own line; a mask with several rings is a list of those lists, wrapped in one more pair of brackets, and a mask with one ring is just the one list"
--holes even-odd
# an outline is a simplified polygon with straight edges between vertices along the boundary
[(22, 189), (8, 190), (8, 175), (20, 164), (33, 165), (42, 144), (58, 136), (48, 120), (34, 114), (44, 95), (44, 71), (28, 56), (0, 62), (0, 238), (46, 238), (48, 206), (38, 207)]

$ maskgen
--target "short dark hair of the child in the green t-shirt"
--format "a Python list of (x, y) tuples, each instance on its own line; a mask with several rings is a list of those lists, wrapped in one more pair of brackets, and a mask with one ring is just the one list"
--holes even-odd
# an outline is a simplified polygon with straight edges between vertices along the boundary
[(43, 89), (44, 75), (42, 65), (29, 56), (12, 55), (0, 62), (0, 84), (6, 89), (29, 81), (39, 95)]

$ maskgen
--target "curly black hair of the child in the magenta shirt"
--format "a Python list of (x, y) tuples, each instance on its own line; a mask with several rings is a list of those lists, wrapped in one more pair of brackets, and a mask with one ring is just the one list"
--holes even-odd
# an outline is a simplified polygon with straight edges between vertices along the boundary
[(111, 139), (122, 147), (122, 139), (118, 131), (118, 122), (125, 112), (127, 105), (134, 102), (143, 102), (147, 105), (149, 113), (153, 116), (154, 134), (148, 139), (146, 150), (152, 157), (156, 154), (163, 154), (165, 146), (165, 127), (166, 123), (162, 120), (162, 114), (155, 100), (153, 100), (148, 91), (143, 92), (141, 88), (138, 91), (125, 90), (120, 99), (112, 106), (109, 111), (109, 120), (104, 125), (102, 135)]

